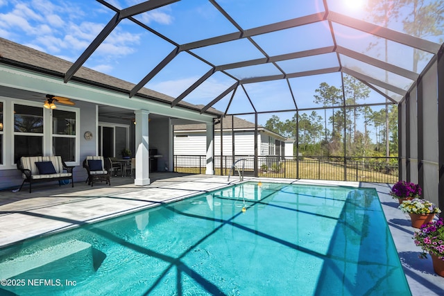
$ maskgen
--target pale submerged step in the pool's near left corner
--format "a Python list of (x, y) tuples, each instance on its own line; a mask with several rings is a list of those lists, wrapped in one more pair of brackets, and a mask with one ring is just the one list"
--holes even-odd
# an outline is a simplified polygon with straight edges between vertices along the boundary
[[(72, 279), (79, 275), (85, 277), (94, 272), (103, 261), (105, 256), (101, 254), (84, 241), (66, 241), (6, 259), (0, 263), (1, 278), (10, 279), (18, 275), (22, 279)], [(94, 257), (99, 258), (99, 264), (94, 264)]]

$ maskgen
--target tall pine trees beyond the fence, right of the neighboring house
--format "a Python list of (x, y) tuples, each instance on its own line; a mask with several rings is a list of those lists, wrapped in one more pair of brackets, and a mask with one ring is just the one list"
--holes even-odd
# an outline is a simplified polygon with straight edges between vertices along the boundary
[[(265, 128), (298, 139), (298, 153), (306, 156), (344, 156), (344, 149), (346, 156), (353, 157), (398, 156), (398, 106), (387, 108), (387, 131), (385, 105), (380, 109), (361, 105), (369, 98), (370, 89), (351, 76), (344, 76), (343, 85), (344, 92), (322, 82), (315, 90), (314, 103), (321, 104), (323, 110), (299, 112), (285, 121), (273, 115)], [(327, 110), (331, 111), (327, 114)]]

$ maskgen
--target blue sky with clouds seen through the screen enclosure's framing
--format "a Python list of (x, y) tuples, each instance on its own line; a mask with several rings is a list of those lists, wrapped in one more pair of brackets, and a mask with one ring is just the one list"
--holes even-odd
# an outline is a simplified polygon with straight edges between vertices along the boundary
[[(357, 6), (361, 1), (330, 0), (328, 3), (332, 10), (364, 19), (364, 10)], [(120, 9), (142, 1), (110, 0), (108, 2)], [(273, 1), (273, 5), (270, 5), (271, 1), (257, 0), (218, 0), (217, 3), (230, 13), (237, 24), (244, 29), (323, 11), (321, 0), (280, 0)], [(113, 15), (112, 10), (94, 0), (0, 0), (0, 37), (74, 62)], [(135, 19), (178, 44), (237, 32), (237, 28), (207, 0), (178, 1), (169, 6), (137, 15)], [(341, 25), (336, 24), (335, 26), (338, 31), (337, 42), (343, 46), (350, 46), (355, 51), (365, 51), (368, 44), (377, 41), (374, 37), (350, 30), (350, 28), (341, 28)], [(399, 28), (400, 25), (393, 24), (393, 27)], [(316, 32), (317, 35), (314, 36), (313, 32)], [(316, 49), (332, 44), (332, 37), (326, 22), (259, 35), (253, 37), (253, 40), (272, 56), (292, 51)], [(405, 60), (408, 59), (397, 57), (399, 52), (409, 55), (409, 49), (405, 49), (406, 46), (403, 47), (400, 44), (391, 44), (391, 46), (393, 49), (391, 56), (388, 57), (389, 62), (409, 68), (410, 65), (405, 63)], [(169, 42), (146, 31), (132, 21), (124, 19), (84, 65), (96, 71), (137, 83), (173, 49), (174, 46)], [(247, 40), (216, 44), (194, 49), (191, 52), (215, 65), (264, 57)], [(372, 52), (368, 53), (374, 58), (381, 55), (377, 49), (372, 49)], [(336, 54), (331, 53), (318, 57), (282, 61), (278, 64), (287, 72), (308, 71), (322, 67), (337, 67), (338, 62), (335, 57)], [(350, 64), (350, 67), (361, 67), (356, 60), (348, 60), (344, 57), (343, 61)], [(148, 82), (146, 87), (176, 97), (210, 68), (205, 62), (194, 58), (189, 53), (182, 52)], [(377, 69), (371, 67), (366, 67), (363, 71), (368, 75), (381, 76)], [(239, 78), (248, 78), (257, 75), (275, 75), (276, 68), (266, 64), (245, 69), (232, 69), (228, 73)], [(408, 85), (409, 83), (409, 81), (395, 76), (392, 79), (399, 81), (400, 85)], [(314, 90), (321, 82), (341, 87), (339, 73), (290, 80), (298, 107), (319, 107), (313, 103), (313, 95)], [(234, 80), (229, 76), (216, 73), (187, 96), (186, 101), (196, 105), (206, 105), (233, 83)], [(251, 101), (257, 105), (258, 111), (294, 108), (285, 80), (254, 83), (245, 85), (245, 88)], [(225, 111), (229, 100), (230, 95), (223, 98), (214, 107)], [(385, 99), (375, 92), (372, 92), (368, 99), (369, 103), (383, 103), (384, 101)], [(381, 107), (376, 108), (379, 110)], [(232, 105), (230, 105), (229, 113), (251, 111), (253, 109), (250, 107), (246, 94), (239, 88)], [(273, 114), (269, 116), (271, 115)], [(253, 119), (253, 116), (246, 117), (250, 121)], [(259, 123), (264, 124), (266, 116), (261, 116), (261, 118), (262, 122)]]

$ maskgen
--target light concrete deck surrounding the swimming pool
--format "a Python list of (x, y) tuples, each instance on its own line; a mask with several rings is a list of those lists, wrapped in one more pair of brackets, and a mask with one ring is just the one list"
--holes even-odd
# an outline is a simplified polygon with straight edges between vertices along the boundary
[[(228, 185), (225, 176), (153, 173), (150, 177), (151, 184), (148, 186), (135, 186), (130, 177), (112, 177), (112, 186), (97, 183), (91, 187), (84, 182), (76, 182), (74, 188), (71, 185), (59, 187), (57, 184), (33, 186), (33, 193), (28, 193), (27, 186), (17, 193), (0, 191), (0, 247)], [(254, 179), (246, 177), (246, 180)], [(264, 178), (261, 180), (265, 181)], [(230, 183), (237, 181), (232, 178)], [(398, 202), (388, 195), (388, 184), (288, 179), (272, 181), (375, 188), (412, 295), (444, 295), (444, 278), (434, 273), (430, 258), (418, 258), (421, 250), (412, 239), (416, 229), (410, 226), (409, 216), (398, 209)]]

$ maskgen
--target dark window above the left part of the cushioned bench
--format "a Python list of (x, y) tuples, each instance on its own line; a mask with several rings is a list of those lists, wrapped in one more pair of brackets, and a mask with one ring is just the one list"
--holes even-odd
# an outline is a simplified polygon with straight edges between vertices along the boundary
[(14, 162), (22, 156), (43, 155), (43, 135), (43, 108), (15, 104)]

